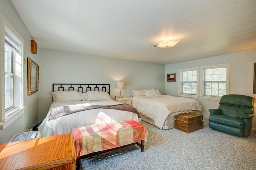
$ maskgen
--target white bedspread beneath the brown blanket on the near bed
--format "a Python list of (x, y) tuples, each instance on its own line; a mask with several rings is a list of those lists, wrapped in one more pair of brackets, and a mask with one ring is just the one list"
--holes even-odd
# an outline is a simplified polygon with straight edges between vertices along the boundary
[(140, 122), (140, 118), (135, 113), (130, 111), (121, 111), (115, 109), (91, 109), (80, 111), (77, 113), (72, 113), (70, 115), (65, 115), (54, 120), (48, 121), (48, 115), (50, 110), (53, 107), (58, 106), (69, 106), (76, 104), (88, 104), (90, 105), (115, 105), (120, 104), (114, 100), (100, 100), (100, 101), (70, 101), (70, 102), (56, 102), (52, 103), (48, 114), (41, 125), (38, 127), (38, 130), (41, 133), (42, 137), (52, 136), (52, 135), (61, 135), (64, 133), (72, 133), (72, 130), (75, 127), (93, 125), (98, 123), (106, 123), (113, 121), (121, 121), (126, 119), (133, 119)]

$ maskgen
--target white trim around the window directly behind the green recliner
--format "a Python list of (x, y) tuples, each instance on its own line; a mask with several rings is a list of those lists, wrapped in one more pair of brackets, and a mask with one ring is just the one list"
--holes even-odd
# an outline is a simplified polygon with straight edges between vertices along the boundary
[(204, 68), (218, 68), (226, 66), (227, 68), (227, 80), (226, 80), (226, 94), (229, 94), (229, 76), (230, 76), (230, 63), (225, 64), (216, 64), (216, 65), (209, 65), (209, 66), (201, 66), (200, 67), (200, 98), (208, 99), (208, 100), (220, 100), (222, 96), (204, 96)]

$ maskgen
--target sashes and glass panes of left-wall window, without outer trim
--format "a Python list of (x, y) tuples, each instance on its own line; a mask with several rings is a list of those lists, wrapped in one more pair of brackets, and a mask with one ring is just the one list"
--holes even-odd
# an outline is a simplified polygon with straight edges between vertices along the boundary
[(23, 107), (22, 43), (5, 27), (4, 35), (4, 106), (5, 116)]

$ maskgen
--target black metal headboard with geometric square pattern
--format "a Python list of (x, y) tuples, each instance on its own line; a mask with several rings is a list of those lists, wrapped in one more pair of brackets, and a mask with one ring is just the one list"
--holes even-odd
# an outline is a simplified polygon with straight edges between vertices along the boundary
[(86, 93), (88, 91), (108, 92), (110, 94), (110, 84), (52, 84), (52, 91), (71, 91)]

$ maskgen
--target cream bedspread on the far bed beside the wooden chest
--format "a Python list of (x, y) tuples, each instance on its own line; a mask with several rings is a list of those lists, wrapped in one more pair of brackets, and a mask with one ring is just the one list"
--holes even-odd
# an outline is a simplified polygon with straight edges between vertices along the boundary
[(170, 95), (138, 96), (132, 97), (132, 106), (140, 114), (153, 119), (155, 125), (163, 128), (168, 115), (186, 113), (189, 111), (201, 111), (199, 102), (190, 98), (174, 97)]

